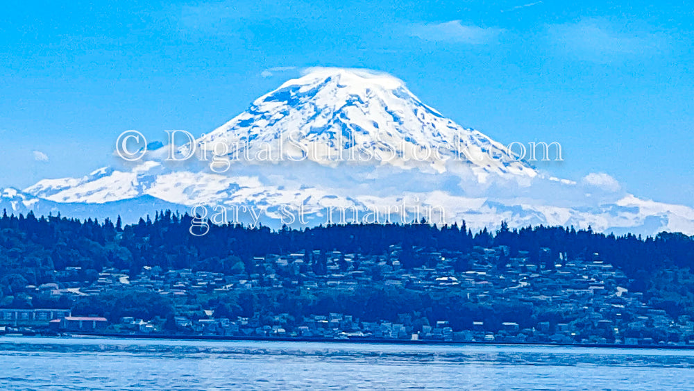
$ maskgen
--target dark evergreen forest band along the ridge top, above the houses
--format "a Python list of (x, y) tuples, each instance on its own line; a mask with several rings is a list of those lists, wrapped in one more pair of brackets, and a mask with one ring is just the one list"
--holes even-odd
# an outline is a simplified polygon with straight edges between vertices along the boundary
[(85, 271), (115, 267), (131, 274), (137, 274), (144, 265), (230, 272), (239, 260), (250, 265), (254, 256), (269, 253), (337, 250), (378, 255), (393, 244), (403, 248), (405, 268), (432, 261), (418, 258), (413, 251), (416, 247), (466, 252), (475, 246), (507, 246), (509, 257), (527, 251), (532, 261), (540, 260), (542, 249), (550, 249), (554, 255), (546, 260), (548, 265), (553, 265), (560, 253), (568, 258), (599, 253), (632, 278), (666, 267), (690, 267), (694, 260), (694, 238), (681, 233), (641, 238), (605, 235), (591, 228), (528, 226), (510, 230), (505, 223), (496, 232), (485, 228), (473, 233), (464, 222), (461, 226), (435, 226), (422, 221), (279, 231), (240, 224), (212, 225), (207, 235), (194, 236), (189, 233), (191, 221), (189, 215), (169, 211), (128, 226), (122, 226), (120, 219), (115, 224), (109, 219), (81, 222), (59, 216), (37, 218), (32, 213), (14, 216), (5, 211), (0, 218), (0, 274), (20, 274), (37, 285), (51, 282), (53, 270), (69, 266)]

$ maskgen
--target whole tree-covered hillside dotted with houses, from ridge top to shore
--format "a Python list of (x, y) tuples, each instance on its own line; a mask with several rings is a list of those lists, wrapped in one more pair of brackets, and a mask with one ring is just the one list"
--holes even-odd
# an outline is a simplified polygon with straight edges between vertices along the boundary
[[(0, 332), (694, 344), (685, 235), (420, 222), (178, 236), (186, 219), (3, 217)], [(628, 251), (656, 258), (625, 265)]]

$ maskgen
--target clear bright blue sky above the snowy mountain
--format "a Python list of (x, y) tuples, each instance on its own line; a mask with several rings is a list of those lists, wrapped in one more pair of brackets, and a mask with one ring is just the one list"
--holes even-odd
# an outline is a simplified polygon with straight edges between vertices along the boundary
[(504, 144), (557, 141), (571, 179), (694, 206), (694, 6), (583, 1), (10, 1), (0, 186), (111, 163), (117, 135), (211, 131), (312, 66), (403, 79)]

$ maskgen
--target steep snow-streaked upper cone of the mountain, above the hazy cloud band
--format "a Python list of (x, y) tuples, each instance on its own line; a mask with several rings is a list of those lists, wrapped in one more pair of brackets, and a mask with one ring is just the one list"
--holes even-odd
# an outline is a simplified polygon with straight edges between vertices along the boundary
[(536, 175), (504, 145), (422, 103), (398, 78), (359, 69), (310, 69), (197, 142), (210, 155), (221, 142), (228, 155), (256, 162), (366, 161), (436, 172), (468, 163), (482, 181), (490, 173)]

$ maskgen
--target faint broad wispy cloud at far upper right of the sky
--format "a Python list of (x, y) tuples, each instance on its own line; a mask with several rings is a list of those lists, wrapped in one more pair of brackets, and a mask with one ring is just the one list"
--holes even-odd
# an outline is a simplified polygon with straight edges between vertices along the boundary
[(627, 28), (606, 19), (582, 19), (579, 22), (549, 26), (550, 39), (575, 56), (598, 62), (620, 55), (652, 53), (665, 49), (668, 38), (648, 28)]

